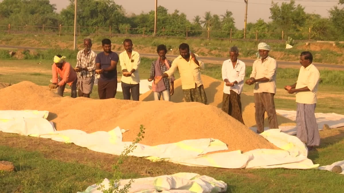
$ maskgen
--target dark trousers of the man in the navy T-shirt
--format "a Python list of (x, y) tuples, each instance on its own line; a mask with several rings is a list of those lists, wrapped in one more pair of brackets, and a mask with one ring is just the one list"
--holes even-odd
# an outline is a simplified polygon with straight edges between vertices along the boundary
[(115, 98), (117, 92), (117, 79), (114, 80), (98, 80), (98, 94), (99, 99)]

